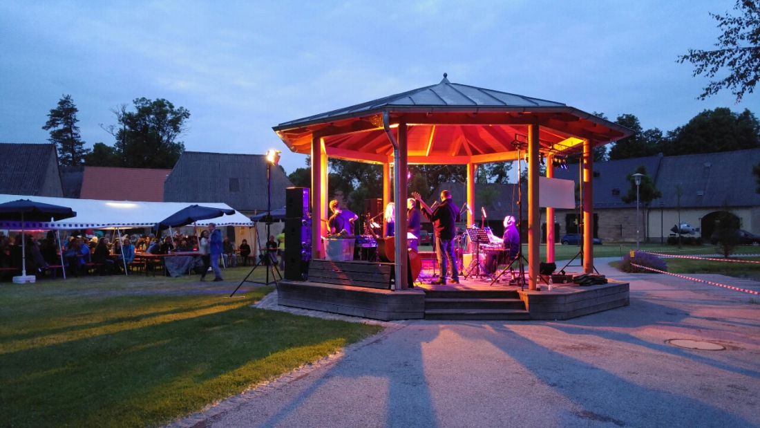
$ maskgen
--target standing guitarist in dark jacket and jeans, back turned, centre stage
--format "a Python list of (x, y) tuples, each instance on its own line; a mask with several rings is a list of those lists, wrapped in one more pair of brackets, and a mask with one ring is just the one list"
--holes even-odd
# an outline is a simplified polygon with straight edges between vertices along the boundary
[[(457, 233), (456, 223), (461, 220), (461, 211), (459, 207), (451, 201), (451, 192), (444, 190), (441, 192), (441, 204), (431, 209), (425, 201), (420, 198), (420, 194), (414, 192), (414, 198), (420, 201), (424, 211), (422, 214), (432, 221), (435, 229), (435, 255), (438, 257), (439, 278), (432, 281), (433, 285), (446, 284), (447, 259), (451, 265), (451, 283), (459, 284), (459, 274), (457, 268), (457, 258), (454, 256), (454, 237)], [(462, 208), (466, 208), (465, 203)]]

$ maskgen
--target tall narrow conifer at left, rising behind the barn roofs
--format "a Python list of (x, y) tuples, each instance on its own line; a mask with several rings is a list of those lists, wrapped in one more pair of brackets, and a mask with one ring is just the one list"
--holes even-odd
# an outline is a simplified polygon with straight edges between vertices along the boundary
[(79, 110), (71, 100), (71, 95), (64, 95), (55, 109), (48, 114), (48, 121), (43, 129), (50, 131), (48, 141), (55, 144), (61, 165), (81, 165), (88, 150), (79, 135), (77, 113)]

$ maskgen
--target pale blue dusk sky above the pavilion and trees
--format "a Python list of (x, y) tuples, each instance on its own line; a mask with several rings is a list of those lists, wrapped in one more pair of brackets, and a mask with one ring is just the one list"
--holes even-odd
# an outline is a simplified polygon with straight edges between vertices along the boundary
[(188, 109), (185, 150), (283, 151), (272, 127), (406, 90), (452, 83), (565, 103), (644, 129), (705, 109), (750, 109), (708, 84), (689, 49), (720, 35), (708, 12), (734, 0), (0, 2), (0, 142), (46, 143), (71, 95), (85, 147), (112, 135), (111, 109), (146, 97)]

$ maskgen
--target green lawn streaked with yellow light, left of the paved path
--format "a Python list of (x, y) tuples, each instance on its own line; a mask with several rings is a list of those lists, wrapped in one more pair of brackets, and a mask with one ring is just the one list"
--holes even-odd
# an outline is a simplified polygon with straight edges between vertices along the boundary
[(381, 329), (225, 298), (249, 271), (0, 283), (0, 425), (160, 426)]

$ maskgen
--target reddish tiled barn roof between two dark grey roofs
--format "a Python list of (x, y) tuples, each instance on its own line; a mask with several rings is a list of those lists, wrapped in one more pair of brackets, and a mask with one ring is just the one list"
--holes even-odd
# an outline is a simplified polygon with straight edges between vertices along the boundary
[(163, 182), (172, 170), (85, 166), (82, 199), (163, 202)]

